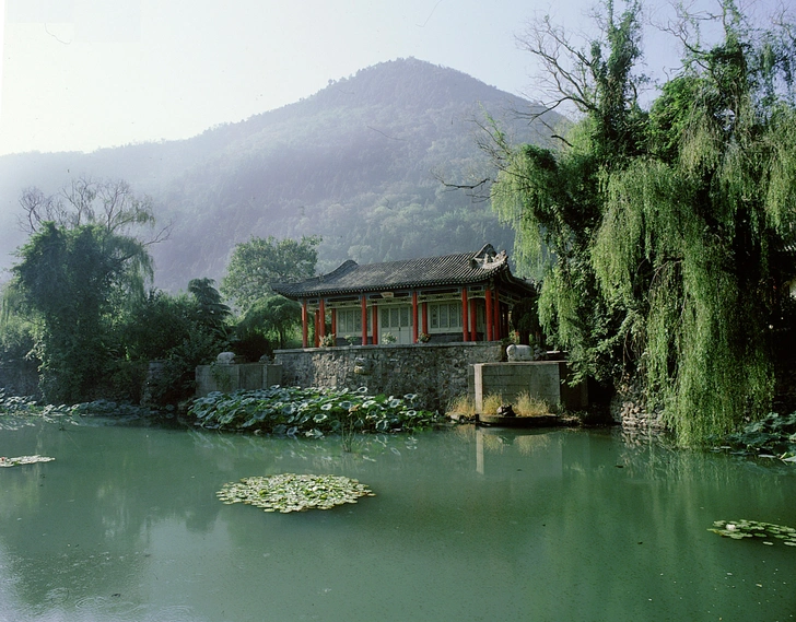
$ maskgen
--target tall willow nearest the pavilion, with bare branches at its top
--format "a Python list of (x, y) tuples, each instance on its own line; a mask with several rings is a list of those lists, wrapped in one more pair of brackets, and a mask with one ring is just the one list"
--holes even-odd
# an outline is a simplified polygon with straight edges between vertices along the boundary
[(494, 128), (502, 160), (492, 206), (515, 231), (520, 269), (541, 282), (539, 318), (548, 340), (570, 352), (576, 377), (609, 382), (623, 366), (628, 331), (621, 308), (601, 294), (590, 247), (605, 211), (604, 178), (637, 156), (646, 113), (633, 74), (641, 56), (640, 7), (614, 17), (607, 4), (604, 38), (581, 50), (549, 20), (532, 27), (525, 47), (554, 77), (554, 108), (574, 103), (583, 120), (558, 151), (513, 149)]

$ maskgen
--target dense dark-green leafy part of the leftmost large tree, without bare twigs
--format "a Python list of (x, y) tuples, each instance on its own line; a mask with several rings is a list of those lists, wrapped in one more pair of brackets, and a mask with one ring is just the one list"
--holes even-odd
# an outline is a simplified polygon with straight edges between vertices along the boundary
[(141, 295), (133, 274), (150, 271), (149, 255), (141, 242), (99, 225), (68, 230), (47, 222), (19, 256), (14, 286), (36, 324), (42, 389), (49, 401), (81, 401), (109, 359), (113, 294)]

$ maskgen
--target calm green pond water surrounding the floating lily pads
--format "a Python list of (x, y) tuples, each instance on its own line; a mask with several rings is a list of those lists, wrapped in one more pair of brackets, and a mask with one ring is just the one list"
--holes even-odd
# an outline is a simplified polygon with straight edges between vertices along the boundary
[[(62, 427), (62, 430), (61, 430)], [(611, 430), (321, 441), (0, 416), (0, 620), (785, 621), (796, 469)], [(330, 510), (224, 505), (226, 482), (356, 478)]]

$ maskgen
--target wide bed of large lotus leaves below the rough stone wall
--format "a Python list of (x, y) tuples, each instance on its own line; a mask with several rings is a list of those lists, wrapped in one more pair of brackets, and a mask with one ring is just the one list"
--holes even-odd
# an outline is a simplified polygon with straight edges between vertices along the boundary
[(356, 432), (414, 432), (444, 418), (417, 408), (418, 396), (368, 395), (356, 390), (280, 387), (233, 394), (212, 392), (195, 400), (188, 415), (206, 429), (250, 431), (320, 438)]

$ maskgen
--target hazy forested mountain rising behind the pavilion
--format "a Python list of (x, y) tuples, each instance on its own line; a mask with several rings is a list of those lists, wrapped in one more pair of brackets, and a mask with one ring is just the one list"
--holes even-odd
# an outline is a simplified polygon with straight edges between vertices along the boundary
[[(525, 113), (518, 116), (516, 112)], [(0, 248), (24, 242), (14, 227), (21, 190), (54, 192), (71, 178), (121, 178), (150, 195), (171, 238), (153, 247), (156, 284), (185, 289), (224, 273), (250, 236), (320, 235), (319, 269), (346, 259), (407, 259), (511, 248), (489, 202), (446, 189), (491, 172), (475, 119), (488, 113), (518, 142), (545, 143), (553, 114), (459, 71), (399, 59), (330, 82), (282, 108), (183, 141), (82, 153), (0, 157)], [(8, 267), (13, 258), (2, 267)], [(3, 259), (0, 258), (0, 261)]]

